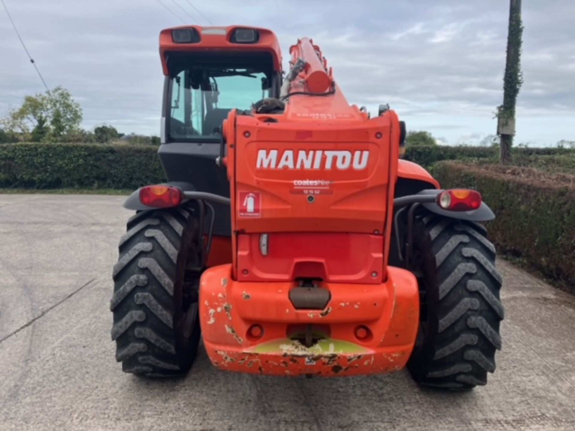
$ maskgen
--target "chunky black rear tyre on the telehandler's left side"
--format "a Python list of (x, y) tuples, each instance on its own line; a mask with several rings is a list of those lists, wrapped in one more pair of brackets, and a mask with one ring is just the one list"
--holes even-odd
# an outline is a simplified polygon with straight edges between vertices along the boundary
[(114, 265), (112, 340), (122, 370), (183, 375), (200, 341), (199, 224), (191, 209), (137, 213), (120, 240)]

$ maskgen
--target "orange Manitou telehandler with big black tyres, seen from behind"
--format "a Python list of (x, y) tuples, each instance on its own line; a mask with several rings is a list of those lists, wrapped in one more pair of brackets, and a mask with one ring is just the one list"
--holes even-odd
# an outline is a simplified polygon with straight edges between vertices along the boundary
[(486, 383), (501, 347), (501, 276), (474, 190), (441, 190), (400, 155), (387, 105), (349, 105), (320, 48), (290, 70), (274, 33), (183, 26), (160, 33), (164, 184), (114, 266), (122, 369), (185, 374), (200, 337), (221, 370)]

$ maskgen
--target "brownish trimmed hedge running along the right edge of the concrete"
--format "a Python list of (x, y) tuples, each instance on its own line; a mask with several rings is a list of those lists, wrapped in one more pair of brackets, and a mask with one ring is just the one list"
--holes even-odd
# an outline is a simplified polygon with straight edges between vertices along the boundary
[(575, 183), (540, 171), (453, 162), (435, 166), (442, 187), (481, 192), (496, 219), (489, 236), (500, 252), (521, 257), (575, 293)]

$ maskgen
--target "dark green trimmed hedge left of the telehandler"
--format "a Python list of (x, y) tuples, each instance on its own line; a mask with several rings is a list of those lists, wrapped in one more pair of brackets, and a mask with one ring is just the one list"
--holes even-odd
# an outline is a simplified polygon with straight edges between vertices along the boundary
[(135, 189), (165, 180), (158, 147), (0, 145), (0, 187)]

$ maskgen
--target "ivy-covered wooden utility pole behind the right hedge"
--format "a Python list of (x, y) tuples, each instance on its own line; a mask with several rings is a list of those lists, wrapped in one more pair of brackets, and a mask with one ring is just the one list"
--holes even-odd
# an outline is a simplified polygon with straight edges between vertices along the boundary
[(507, 34), (507, 61), (503, 78), (503, 105), (497, 107), (497, 134), (501, 137), (499, 161), (511, 162), (511, 146), (515, 135), (515, 104), (523, 83), (520, 67), (523, 22), (521, 0), (509, 0), (509, 30)]

